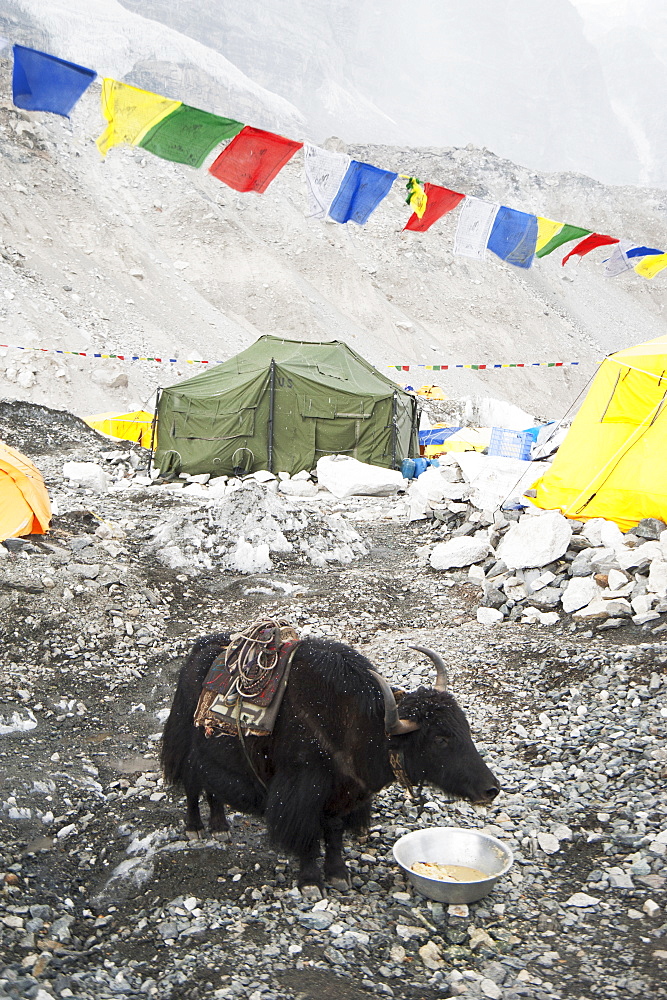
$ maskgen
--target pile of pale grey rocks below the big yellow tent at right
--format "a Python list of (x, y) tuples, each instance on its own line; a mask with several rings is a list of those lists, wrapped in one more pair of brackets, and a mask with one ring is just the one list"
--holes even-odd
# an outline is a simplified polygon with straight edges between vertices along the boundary
[(623, 533), (603, 518), (576, 521), (517, 502), (480, 509), (470, 483), (450, 483), (452, 468), (429, 470), (429, 484), (417, 486), (432, 494), (442, 477), (445, 496), (456, 491), (454, 500), (431, 503), (444, 540), (426, 554), (438, 571), (469, 567), (482, 591), (479, 622), (553, 625), (564, 612), (614, 628), (667, 612), (667, 524), (645, 518)]

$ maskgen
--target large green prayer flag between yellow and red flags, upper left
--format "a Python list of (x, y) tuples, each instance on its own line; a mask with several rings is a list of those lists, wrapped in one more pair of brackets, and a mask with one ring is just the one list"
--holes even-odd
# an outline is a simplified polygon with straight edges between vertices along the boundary
[(211, 150), (231, 139), (243, 128), (232, 118), (220, 118), (208, 111), (181, 104), (170, 115), (154, 125), (139, 146), (163, 160), (201, 167)]

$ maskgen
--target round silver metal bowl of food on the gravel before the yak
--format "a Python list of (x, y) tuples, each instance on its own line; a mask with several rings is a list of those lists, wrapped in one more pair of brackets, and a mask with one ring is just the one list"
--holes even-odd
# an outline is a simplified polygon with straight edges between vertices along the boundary
[[(432, 826), (414, 830), (394, 844), (394, 858), (417, 892), (439, 903), (474, 903), (491, 892), (512, 867), (512, 852), (500, 840), (459, 826)], [(488, 874), (477, 882), (442, 882), (413, 872), (416, 861), (467, 865)]]

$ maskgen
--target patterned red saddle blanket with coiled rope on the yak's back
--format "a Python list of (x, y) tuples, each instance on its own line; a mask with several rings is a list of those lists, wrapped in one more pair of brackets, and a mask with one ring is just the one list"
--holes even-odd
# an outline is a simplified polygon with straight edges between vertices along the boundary
[(207, 736), (273, 732), (298, 639), (282, 619), (256, 622), (231, 636), (206, 675), (195, 725)]

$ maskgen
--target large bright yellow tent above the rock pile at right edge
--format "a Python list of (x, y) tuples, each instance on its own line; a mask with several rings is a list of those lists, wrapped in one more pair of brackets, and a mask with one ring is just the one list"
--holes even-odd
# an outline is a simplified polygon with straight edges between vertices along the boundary
[(664, 336), (605, 358), (534, 502), (623, 530), (644, 517), (667, 522), (666, 449)]

